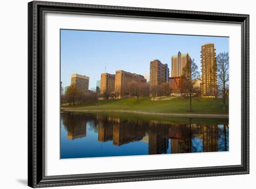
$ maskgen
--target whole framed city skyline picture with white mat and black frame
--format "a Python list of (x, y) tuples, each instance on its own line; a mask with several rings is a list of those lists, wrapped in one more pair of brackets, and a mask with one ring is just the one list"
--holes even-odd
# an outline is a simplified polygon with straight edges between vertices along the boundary
[(28, 3), (28, 186), (249, 174), (249, 15)]

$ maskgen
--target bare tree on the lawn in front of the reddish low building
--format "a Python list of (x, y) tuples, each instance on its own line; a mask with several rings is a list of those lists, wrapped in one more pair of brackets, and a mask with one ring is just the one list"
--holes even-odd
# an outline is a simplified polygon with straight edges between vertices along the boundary
[(186, 94), (186, 97), (189, 97), (189, 111), (192, 111), (192, 98), (195, 96), (195, 93), (199, 92), (195, 86), (199, 74), (195, 59), (190, 60), (183, 68), (183, 85), (181, 88), (182, 92)]

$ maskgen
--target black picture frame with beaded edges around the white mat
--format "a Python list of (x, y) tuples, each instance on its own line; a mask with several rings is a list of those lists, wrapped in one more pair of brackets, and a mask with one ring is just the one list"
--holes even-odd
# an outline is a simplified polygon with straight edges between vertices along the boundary
[[(43, 18), (46, 12), (241, 24), (241, 164), (187, 169), (45, 176)], [(39, 188), (237, 174), (249, 174), (249, 15), (45, 1), (28, 3), (28, 186)]]

